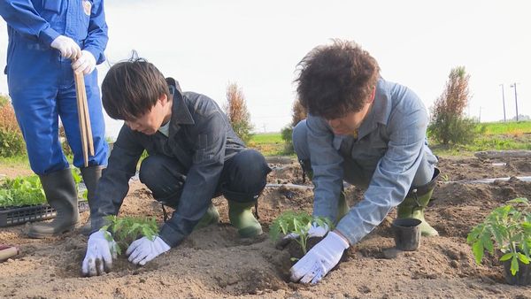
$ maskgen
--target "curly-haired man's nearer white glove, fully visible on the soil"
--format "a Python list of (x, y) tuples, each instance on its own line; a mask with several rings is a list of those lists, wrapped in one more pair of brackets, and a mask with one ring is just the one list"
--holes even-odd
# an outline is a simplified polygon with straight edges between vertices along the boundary
[(318, 283), (327, 272), (332, 270), (342, 257), (345, 249), (349, 248), (349, 242), (346, 242), (342, 236), (330, 232), (317, 245), (315, 245), (306, 255), (301, 258), (296, 265), (293, 265), (291, 272), (291, 281), (312, 284)]

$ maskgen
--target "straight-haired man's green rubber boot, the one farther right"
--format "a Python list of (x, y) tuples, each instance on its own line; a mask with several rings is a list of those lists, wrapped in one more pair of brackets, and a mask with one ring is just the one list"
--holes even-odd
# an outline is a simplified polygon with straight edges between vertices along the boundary
[(262, 226), (252, 214), (250, 209), (255, 202), (238, 203), (228, 200), (228, 219), (238, 229), (242, 238), (252, 238), (263, 234)]

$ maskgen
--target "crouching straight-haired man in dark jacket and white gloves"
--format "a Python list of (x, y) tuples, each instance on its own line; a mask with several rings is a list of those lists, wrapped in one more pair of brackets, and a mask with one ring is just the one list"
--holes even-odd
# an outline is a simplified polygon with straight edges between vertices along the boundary
[(211, 98), (181, 92), (177, 81), (138, 58), (113, 65), (102, 94), (105, 111), (125, 125), (90, 204), (93, 233), (82, 263), (85, 275), (112, 267), (113, 242), (99, 229), (105, 216), (118, 214), (144, 149), (149, 157), (140, 166), (140, 180), (163, 208), (175, 211), (153, 241), (142, 237), (129, 246), (130, 262), (145, 265), (179, 245), (194, 228), (218, 223), (215, 196), (227, 198), (228, 217), (242, 237), (262, 234), (251, 208), (271, 169), (262, 154), (245, 148)]

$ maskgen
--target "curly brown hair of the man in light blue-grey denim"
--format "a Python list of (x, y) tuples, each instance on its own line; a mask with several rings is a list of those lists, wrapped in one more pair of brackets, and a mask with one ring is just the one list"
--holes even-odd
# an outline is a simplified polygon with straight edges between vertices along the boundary
[(334, 40), (297, 65), (296, 92), (304, 108), (325, 119), (360, 111), (380, 77), (380, 66), (356, 42)]

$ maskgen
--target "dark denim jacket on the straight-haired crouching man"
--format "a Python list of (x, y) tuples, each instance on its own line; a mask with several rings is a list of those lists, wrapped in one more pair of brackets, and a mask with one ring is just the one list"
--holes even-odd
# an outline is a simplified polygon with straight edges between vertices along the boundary
[(172, 78), (166, 81), (174, 90), (169, 135), (147, 135), (122, 126), (90, 204), (93, 232), (105, 225), (105, 216), (118, 214), (146, 149), (149, 155), (172, 157), (188, 170), (179, 204), (159, 234), (168, 245), (177, 246), (208, 209), (225, 161), (245, 149), (217, 103), (204, 95), (181, 93)]

